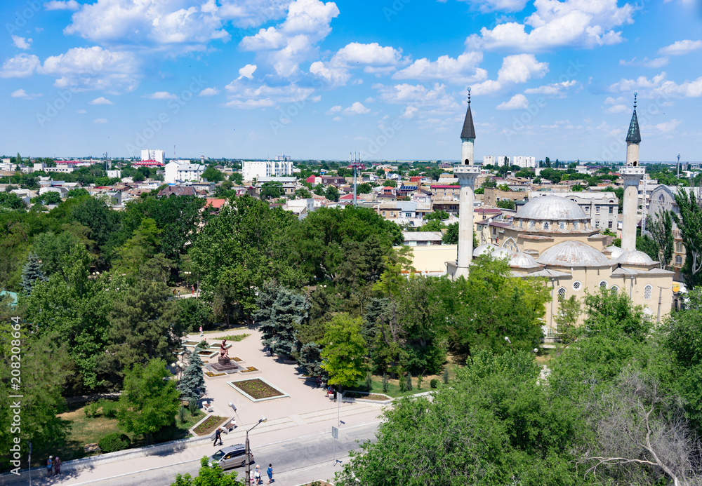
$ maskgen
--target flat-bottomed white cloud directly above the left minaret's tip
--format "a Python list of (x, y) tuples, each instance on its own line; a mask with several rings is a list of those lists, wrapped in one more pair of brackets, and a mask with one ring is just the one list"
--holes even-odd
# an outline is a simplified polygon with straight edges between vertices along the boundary
[(487, 79), (486, 70), (478, 67), (482, 60), (483, 55), (479, 52), (463, 53), (456, 59), (448, 55), (439, 56), (435, 61), (422, 58), (393, 74), (392, 79), (440, 79), (458, 84), (475, 83)]

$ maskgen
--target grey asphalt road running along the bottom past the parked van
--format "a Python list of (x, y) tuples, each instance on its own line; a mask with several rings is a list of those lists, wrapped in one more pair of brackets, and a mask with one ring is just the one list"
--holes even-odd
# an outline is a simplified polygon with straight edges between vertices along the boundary
[[(369, 424), (345, 428), (340, 426), (338, 440), (336, 440), (336, 459), (347, 458), (350, 450), (356, 450), (359, 443), (373, 440), (378, 430), (378, 421)], [(268, 464), (273, 464), (275, 484), (279, 486), (298, 485), (301, 482), (314, 479), (333, 479), (333, 472), (339, 471), (341, 466), (334, 465), (334, 443), (329, 432), (317, 436), (307, 436), (298, 439), (286, 440), (280, 443), (257, 446), (251, 440), (251, 450), (256, 464), (260, 464), (263, 476)], [(212, 452), (217, 448), (213, 447)], [(190, 473), (197, 476), (199, 460), (187, 461), (182, 464), (162, 466), (145, 471), (131, 471), (105, 480), (89, 482), (71, 482), (73, 486), (80, 485), (110, 485), (110, 486), (168, 486), (176, 479), (176, 474)], [(255, 465), (253, 466), (255, 467)], [(227, 472), (237, 472), (239, 477), (244, 477), (244, 468), (232, 468)], [(265, 482), (267, 482), (267, 477)], [(49, 480), (34, 481), (34, 484), (49, 484)]]

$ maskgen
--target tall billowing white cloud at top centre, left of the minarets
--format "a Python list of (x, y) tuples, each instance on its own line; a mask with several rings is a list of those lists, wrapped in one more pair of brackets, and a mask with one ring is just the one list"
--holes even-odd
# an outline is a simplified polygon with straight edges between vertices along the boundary
[(239, 47), (255, 51), (256, 58), (278, 76), (296, 76), (300, 62), (316, 58), (316, 44), (329, 35), (331, 20), (337, 15), (339, 9), (331, 1), (294, 0), (282, 24), (244, 37)]

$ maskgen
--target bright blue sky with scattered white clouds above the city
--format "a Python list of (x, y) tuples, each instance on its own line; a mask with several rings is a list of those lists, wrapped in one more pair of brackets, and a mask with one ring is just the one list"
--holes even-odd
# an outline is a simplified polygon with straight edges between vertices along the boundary
[(695, 0), (25, 0), (0, 6), (0, 151), (699, 161)]

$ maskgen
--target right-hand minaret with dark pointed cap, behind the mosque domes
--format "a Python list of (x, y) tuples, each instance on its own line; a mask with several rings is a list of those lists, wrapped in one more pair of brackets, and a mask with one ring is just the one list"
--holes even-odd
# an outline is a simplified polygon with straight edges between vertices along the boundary
[[(622, 206), (621, 249), (625, 252), (636, 250), (636, 220), (639, 209), (639, 181), (646, 170), (639, 165), (639, 119), (636, 116), (636, 95), (634, 93), (634, 113), (626, 134), (626, 166), (619, 171), (624, 180), (624, 203)], [(645, 197), (645, 194), (644, 194)]]

